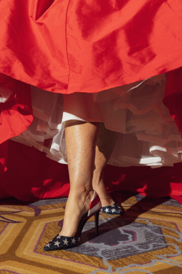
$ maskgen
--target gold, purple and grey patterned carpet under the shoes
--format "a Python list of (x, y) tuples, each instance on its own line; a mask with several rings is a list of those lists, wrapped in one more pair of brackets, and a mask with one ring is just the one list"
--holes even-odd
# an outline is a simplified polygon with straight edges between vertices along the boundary
[(65, 202), (0, 201), (0, 273), (182, 273), (182, 205), (177, 201), (122, 194), (125, 215), (100, 214), (99, 236), (90, 219), (80, 246), (43, 252), (62, 225)]

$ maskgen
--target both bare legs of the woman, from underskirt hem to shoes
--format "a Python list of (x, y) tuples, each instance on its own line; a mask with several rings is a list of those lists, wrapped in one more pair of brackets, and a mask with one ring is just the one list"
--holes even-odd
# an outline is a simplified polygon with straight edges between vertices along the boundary
[(104, 186), (103, 170), (118, 132), (107, 130), (103, 123), (73, 120), (67, 121), (65, 127), (70, 193), (60, 235), (74, 236), (79, 220), (88, 211), (94, 190), (102, 206), (113, 203)]

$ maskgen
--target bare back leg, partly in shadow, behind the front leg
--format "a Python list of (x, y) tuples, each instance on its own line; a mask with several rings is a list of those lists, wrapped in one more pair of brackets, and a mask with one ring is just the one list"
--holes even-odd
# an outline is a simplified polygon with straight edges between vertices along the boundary
[(113, 151), (119, 133), (106, 129), (104, 123), (99, 123), (98, 140), (96, 145), (95, 169), (93, 175), (93, 188), (98, 193), (102, 207), (112, 204), (113, 199), (106, 190), (103, 172), (106, 163)]

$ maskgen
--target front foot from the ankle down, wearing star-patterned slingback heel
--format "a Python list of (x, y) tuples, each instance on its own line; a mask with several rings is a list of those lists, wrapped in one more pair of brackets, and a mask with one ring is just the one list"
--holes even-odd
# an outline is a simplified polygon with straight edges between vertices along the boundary
[(93, 215), (95, 215), (96, 231), (98, 234), (100, 209), (101, 201), (96, 192), (89, 191), (81, 195), (80, 193), (71, 192), (65, 211), (63, 228), (59, 234), (44, 246), (43, 250), (60, 250), (77, 246), (84, 224)]

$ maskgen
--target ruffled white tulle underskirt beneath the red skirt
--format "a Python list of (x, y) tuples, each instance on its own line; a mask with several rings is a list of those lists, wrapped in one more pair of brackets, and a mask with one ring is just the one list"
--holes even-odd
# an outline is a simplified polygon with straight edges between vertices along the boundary
[(13, 140), (67, 163), (65, 122), (104, 122), (106, 128), (120, 132), (109, 164), (173, 165), (182, 159), (182, 140), (162, 103), (165, 84), (166, 76), (160, 75), (99, 93), (67, 95), (32, 86), (34, 121)]

